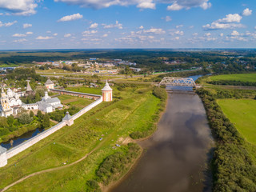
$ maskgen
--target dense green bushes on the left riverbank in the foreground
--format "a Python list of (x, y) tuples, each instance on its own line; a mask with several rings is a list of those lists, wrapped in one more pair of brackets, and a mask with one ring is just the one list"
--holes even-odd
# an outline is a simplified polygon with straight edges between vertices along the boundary
[(121, 150), (106, 157), (100, 166), (98, 166), (95, 180), (106, 186), (121, 177), (129, 169), (134, 159), (138, 157), (139, 152), (140, 147), (138, 144), (129, 143), (127, 146), (121, 146)]

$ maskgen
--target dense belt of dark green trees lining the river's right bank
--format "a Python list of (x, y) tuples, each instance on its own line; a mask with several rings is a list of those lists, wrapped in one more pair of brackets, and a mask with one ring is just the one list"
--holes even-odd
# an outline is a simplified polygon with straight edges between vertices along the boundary
[(210, 91), (197, 90), (206, 108), (216, 147), (213, 157), (214, 191), (256, 191), (256, 167), (246, 141), (222, 113)]

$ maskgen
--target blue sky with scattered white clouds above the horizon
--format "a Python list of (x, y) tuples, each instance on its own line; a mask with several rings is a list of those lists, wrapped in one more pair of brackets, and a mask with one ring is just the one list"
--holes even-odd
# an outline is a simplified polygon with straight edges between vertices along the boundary
[(0, 0), (0, 50), (255, 48), (255, 0)]

